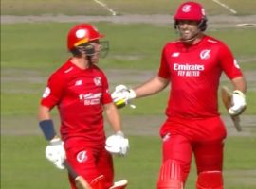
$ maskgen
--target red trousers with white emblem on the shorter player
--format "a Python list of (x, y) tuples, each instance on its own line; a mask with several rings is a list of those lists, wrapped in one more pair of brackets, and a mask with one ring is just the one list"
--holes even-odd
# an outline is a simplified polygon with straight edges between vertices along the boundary
[[(81, 138), (72, 138), (64, 143), (64, 147), (66, 160), (88, 183), (103, 175), (105, 188), (113, 185), (113, 159), (105, 150), (104, 144), (88, 144)], [(70, 177), (69, 182), (71, 188), (76, 189), (74, 180)]]

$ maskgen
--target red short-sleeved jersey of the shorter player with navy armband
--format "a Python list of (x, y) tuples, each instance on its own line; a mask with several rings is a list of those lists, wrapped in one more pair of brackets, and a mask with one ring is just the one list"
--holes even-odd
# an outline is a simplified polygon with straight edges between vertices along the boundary
[(49, 77), (41, 104), (50, 109), (58, 106), (64, 141), (82, 137), (95, 144), (105, 139), (102, 105), (110, 102), (107, 78), (100, 68), (82, 70), (67, 60)]

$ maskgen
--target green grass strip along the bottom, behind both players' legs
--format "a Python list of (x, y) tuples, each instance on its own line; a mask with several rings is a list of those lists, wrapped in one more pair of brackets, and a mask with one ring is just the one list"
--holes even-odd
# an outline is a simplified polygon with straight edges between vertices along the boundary
[[(46, 161), (46, 142), (42, 139), (31, 135), (1, 137), (1, 188), (68, 188), (65, 171)], [(130, 136), (130, 145), (129, 156), (114, 158), (116, 180), (128, 179), (132, 189), (155, 188), (161, 153), (159, 138)], [(226, 189), (255, 188), (255, 146), (255, 137), (229, 137), (224, 162)], [(195, 175), (192, 164), (186, 188), (194, 188)]]

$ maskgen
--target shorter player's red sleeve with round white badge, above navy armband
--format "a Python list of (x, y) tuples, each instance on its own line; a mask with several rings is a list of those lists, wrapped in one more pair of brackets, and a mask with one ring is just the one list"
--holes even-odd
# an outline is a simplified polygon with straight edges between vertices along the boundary
[(55, 73), (48, 79), (41, 104), (52, 109), (57, 105), (64, 94), (64, 77)]

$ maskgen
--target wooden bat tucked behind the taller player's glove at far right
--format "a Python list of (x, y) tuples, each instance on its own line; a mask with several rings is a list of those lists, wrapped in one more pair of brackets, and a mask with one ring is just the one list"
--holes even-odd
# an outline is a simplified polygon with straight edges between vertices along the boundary
[[(229, 110), (229, 108), (232, 106), (232, 94), (231, 92), (229, 91), (229, 88), (226, 87), (226, 86), (222, 86), (221, 88), (221, 98), (222, 98), (222, 102), (225, 106), (225, 108), (227, 110)], [(241, 125), (240, 125), (240, 117), (239, 115), (230, 115), (231, 117), (231, 120), (234, 124), (234, 127), (237, 131), (241, 132), (242, 131), (242, 128), (241, 128)]]

